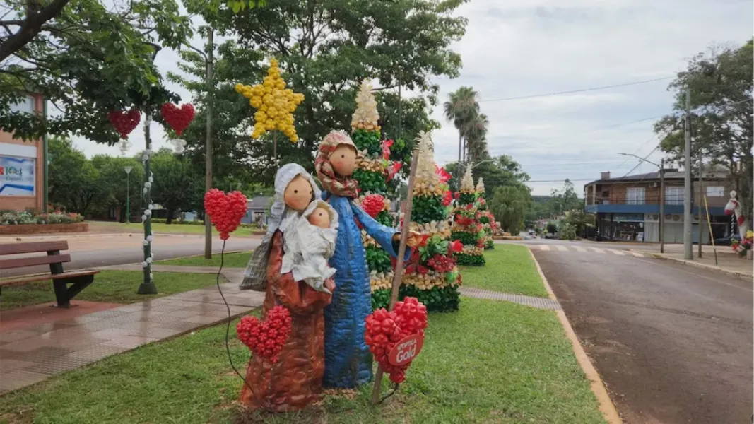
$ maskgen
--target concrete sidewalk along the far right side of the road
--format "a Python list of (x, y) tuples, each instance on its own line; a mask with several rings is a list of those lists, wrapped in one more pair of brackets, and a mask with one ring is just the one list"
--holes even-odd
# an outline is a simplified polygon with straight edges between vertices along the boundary
[[(721, 251), (722, 249), (725, 250)], [(728, 246), (719, 248), (717, 252), (717, 264), (715, 263), (715, 253), (711, 246), (705, 246), (701, 258), (697, 257), (696, 246), (694, 246), (694, 260), (685, 260), (682, 251), (669, 252), (666, 250), (665, 253), (638, 249), (633, 251), (643, 253), (648, 257), (654, 257), (656, 259), (673, 260), (688, 266), (725, 272), (728, 275), (742, 280), (754, 280), (754, 263), (752, 263), (751, 260), (747, 260), (745, 257), (739, 257), (737, 253), (731, 252), (730, 250), (731, 247)]]

